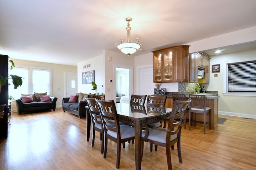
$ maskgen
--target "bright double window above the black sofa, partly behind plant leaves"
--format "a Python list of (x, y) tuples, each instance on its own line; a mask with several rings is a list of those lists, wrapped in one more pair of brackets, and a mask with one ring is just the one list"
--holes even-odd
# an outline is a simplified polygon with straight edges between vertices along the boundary
[(15, 67), (8, 74), (23, 77), (22, 86), (14, 89), (10, 86), (9, 96), (20, 97), (20, 94), (44, 93), (51, 94), (51, 70), (48, 68), (21, 68)]

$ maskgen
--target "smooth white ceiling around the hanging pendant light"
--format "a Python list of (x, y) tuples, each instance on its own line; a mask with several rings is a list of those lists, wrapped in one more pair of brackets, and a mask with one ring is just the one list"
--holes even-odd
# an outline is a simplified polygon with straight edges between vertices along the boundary
[(255, 0), (4, 0), (0, 54), (76, 66), (104, 49), (120, 52), (131, 17), (143, 49), (133, 55), (142, 55), (254, 27), (255, 9)]

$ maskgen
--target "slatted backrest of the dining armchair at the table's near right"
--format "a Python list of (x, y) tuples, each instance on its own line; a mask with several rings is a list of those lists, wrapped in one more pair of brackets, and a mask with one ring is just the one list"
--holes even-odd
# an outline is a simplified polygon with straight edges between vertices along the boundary
[(168, 129), (170, 129), (170, 133), (167, 133), (168, 135), (171, 136), (181, 132), (184, 115), (188, 109), (190, 102), (190, 98), (187, 101), (176, 100), (174, 102), (172, 113), (168, 122)]

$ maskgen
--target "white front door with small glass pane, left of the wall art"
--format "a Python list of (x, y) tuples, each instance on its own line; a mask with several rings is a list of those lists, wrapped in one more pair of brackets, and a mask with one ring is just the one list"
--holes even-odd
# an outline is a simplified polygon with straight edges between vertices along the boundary
[(76, 95), (77, 93), (77, 74), (76, 73), (66, 73), (66, 93), (65, 97), (69, 98), (70, 95)]

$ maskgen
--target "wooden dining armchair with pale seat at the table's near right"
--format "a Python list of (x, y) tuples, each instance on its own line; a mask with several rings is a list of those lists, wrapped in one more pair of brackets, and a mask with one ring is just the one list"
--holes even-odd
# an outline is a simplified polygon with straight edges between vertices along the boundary
[(180, 136), (184, 115), (190, 102), (191, 99), (174, 102), (167, 128), (146, 125), (146, 131), (142, 132), (142, 156), (144, 141), (165, 147), (168, 170), (172, 170), (171, 148), (174, 150), (174, 144), (177, 143), (178, 157), (180, 163), (182, 163)]

